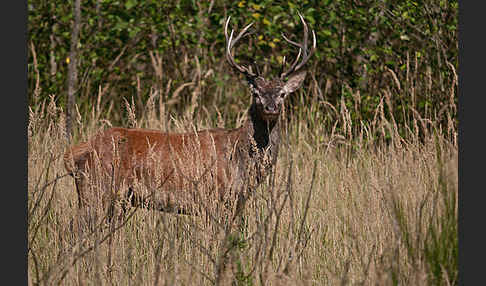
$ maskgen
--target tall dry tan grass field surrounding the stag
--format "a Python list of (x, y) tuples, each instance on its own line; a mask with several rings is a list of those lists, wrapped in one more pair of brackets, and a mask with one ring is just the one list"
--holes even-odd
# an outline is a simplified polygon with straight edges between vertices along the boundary
[[(174, 118), (160, 94), (154, 89), (142, 112), (127, 101), (127, 125), (184, 131), (244, 119), (232, 107), (190, 108)], [(91, 114), (78, 113), (74, 142), (111, 125), (102, 96), (100, 88)], [(412, 114), (408, 133), (399, 135), (383, 99), (375, 119), (360, 126), (344, 104), (327, 113), (322, 102), (288, 110), (275, 172), (241, 212), (199, 217), (132, 208), (107, 222), (99, 209), (85, 231), (73, 227), (77, 197), (61, 160), (63, 110), (54, 97), (39, 102), (28, 126), (29, 284), (457, 284), (457, 131)]]

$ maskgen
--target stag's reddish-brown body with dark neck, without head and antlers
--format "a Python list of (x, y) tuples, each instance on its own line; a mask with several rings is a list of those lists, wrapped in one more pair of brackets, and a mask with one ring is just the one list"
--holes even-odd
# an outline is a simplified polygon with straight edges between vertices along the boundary
[[(83, 174), (95, 170), (96, 158), (100, 162), (99, 171), (114, 177), (114, 190), (159, 172), (163, 184), (158, 191), (170, 193), (172, 200), (180, 199), (178, 192), (191, 188), (188, 179), (211, 180), (223, 197), (226, 192), (242, 186), (249, 166), (253, 166), (257, 181), (261, 181), (277, 159), (279, 142), (278, 121), (267, 124), (249, 119), (235, 129), (189, 133), (115, 127), (71, 147), (65, 153), (64, 162), (70, 173), (78, 173), (80, 207), (90, 201), (86, 193), (88, 182), (83, 181)], [(117, 167), (114, 166), (116, 162)], [(174, 201), (168, 202), (167, 195), (154, 200), (152, 203), (159, 210), (184, 207), (177, 206)]]

